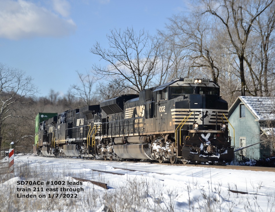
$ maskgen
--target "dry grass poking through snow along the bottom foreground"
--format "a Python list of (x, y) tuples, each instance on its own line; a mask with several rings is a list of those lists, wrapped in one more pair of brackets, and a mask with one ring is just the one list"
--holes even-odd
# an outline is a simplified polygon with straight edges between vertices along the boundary
[[(263, 211), (258, 204), (258, 196), (254, 201), (249, 201), (249, 196), (233, 194), (223, 185), (208, 185), (201, 188), (197, 183), (189, 183), (182, 187), (183, 194), (178, 194), (178, 185), (165, 187), (163, 181), (152, 177), (129, 175), (122, 178), (123, 183), (118, 182), (114, 188), (105, 190), (88, 182), (83, 185), (17, 185), (17, 181), (74, 181), (70, 176), (75, 175), (71, 165), (57, 167), (52, 165), (28, 163), (15, 167), (14, 174), (0, 174), (0, 211), (100, 211), (100, 212), (178, 212), (178, 211), (235, 211), (238, 204), (243, 205), (247, 212)], [(92, 172), (94, 173), (94, 172)], [(92, 178), (94, 181), (104, 182), (102, 174), (86, 173), (85, 170), (78, 172), (77, 177)], [(105, 182), (108, 183), (108, 182)], [(252, 185), (255, 193), (261, 193), (262, 182)], [(43, 187), (43, 191), (34, 191), (36, 187)], [(84, 192), (71, 192), (78, 194), (77, 198), (49, 198), (49, 194), (60, 194), (61, 188), (80, 188)], [(230, 185), (227, 186), (228, 189)], [(30, 192), (18, 191), (20, 188), (30, 188)], [(57, 188), (58, 192), (46, 191), (46, 189)], [(194, 193), (199, 191), (199, 197), (194, 198)], [(66, 193), (66, 192), (65, 192)], [(69, 192), (67, 192), (69, 193)], [(18, 198), (20, 194), (37, 195), (37, 198)], [(197, 193), (196, 193), (197, 194)], [(39, 198), (39, 195), (41, 197)], [(43, 196), (45, 195), (45, 196)], [(234, 196), (232, 196), (234, 195)], [(179, 199), (185, 202), (179, 202)], [(237, 201), (229, 201), (230, 199)], [(261, 200), (262, 201), (262, 200)], [(244, 203), (245, 202), (245, 203)], [(268, 211), (274, 210), (275, 195), (266, 196)]]

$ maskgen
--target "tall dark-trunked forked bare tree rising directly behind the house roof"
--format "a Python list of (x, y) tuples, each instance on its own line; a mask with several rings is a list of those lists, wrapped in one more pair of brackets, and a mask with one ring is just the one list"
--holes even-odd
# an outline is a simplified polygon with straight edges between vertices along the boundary
[(239, 59), (241, 95), (245, 96), (245, 53), (252, 25), (274, 0), (204, 0), (206, 13), (212, 14), (225, 27)]

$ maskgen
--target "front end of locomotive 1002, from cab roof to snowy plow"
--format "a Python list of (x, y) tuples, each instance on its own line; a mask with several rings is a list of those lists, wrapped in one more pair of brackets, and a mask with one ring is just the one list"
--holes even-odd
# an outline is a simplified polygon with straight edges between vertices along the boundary
[[(234, 148), (226, 127), (228, 104), (219, 96), (217, 84), (209, 79), (185, 78), (160, 85), (153, 92), (156, 131), (168, 133), (171, 145), (177, 147), (174, 152), (178, 158), (203, 163), (232, 160)], [(155, 149), (161, 148), (159, 144)], [(161, 162), (163, 156), (157, 158)]]

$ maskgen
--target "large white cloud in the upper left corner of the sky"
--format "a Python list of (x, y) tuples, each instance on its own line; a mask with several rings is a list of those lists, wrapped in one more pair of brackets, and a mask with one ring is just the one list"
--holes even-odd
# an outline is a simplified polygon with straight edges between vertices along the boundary
[[(63, 11), (55, 10), (62, 16), (68, 17), (68, 7)], [(50, 10), (30, 1), (0, 1), (0, 37), (2, 38), (19, 40), (45, 36), (60, 37), (69, 35), (75, 29), (76, 24), (71, 18), (60, 18)]]

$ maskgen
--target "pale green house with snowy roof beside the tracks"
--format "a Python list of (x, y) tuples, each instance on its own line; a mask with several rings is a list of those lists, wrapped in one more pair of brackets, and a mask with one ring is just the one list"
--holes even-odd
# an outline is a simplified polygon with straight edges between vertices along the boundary
[(228, 117), (236, 158), (264, 159), (274, 156), (274, 97), (239, 96), (230, 107)]

